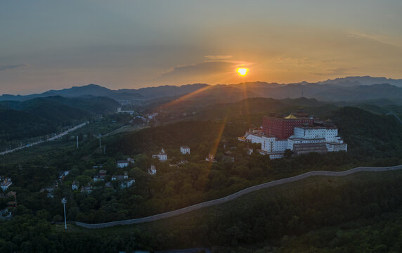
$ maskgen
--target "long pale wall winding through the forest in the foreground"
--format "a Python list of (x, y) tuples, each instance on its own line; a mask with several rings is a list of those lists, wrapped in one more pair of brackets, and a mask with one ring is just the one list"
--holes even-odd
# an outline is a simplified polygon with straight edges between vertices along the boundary
[(129, 219), (129, 220), (124, 220), (124, 221), (111, 221), (111, 222), (96, 223), (96, 224), (82, 223), (82, 222), (76, 221), (75, 224), (77, 226), (82, 226), (84, 228), (94, 229), (94, 228), (106, 228), (106, 227), (116, 226), (116, 225), (129, 225), (129, 224), (157, 221), (159, 219), (166, 219), (166, 218), (177, 216), (180, 214), (186, 214), (188, 212), (191, 212), (191, 211), (203, 208), (203, 207), (211, 207), (214, 205), (219, 205), (219, 204), (234, 200), (247, 193), (252, 193), (255, 190), (261, 190), (261, 189), (269, 188), (272, 186), (278, 186), (283, 183), (290, 183), (290, 182), (298, 181), (301, 179), (306, 179), (310, 176), (347, 176), (349, 174), (354, 174), (356, 172), (361, 172), (361, 171), (372, 171), (372, 172), (374, 172), (374, 171), (393, 171), (393, 170), (397, 170), (397, 169), (402, 169), (402, 165), (397, 165), (394, 167), (357, 167), (354, 169), (349, 169), (347, 171), (310, 171), (310, 172), (306, 172), (304, 174), (300, 174), (298, 176), (292, 176), (292, 177), (289, 177), (286, 179), (275, 180), (275, 181), (271, 181), (268, 183), (262, 183), (257, 186), (245, 188), (244, 190), (240, 190), (237, 193), (233, 193), (226, 197), (221, 197), (216, 200), (202, 202), (202, 203), (199, 203), (196, 205), (192, 205), (190, 207), (184, 207), (184, 208), (177, 209), (177, 210), (174, 210), (171, 212), (165, 212), (162, 214), (156, 214), (156, 215), (148, 216), (148, 217), (144, 217), (144, 218)]

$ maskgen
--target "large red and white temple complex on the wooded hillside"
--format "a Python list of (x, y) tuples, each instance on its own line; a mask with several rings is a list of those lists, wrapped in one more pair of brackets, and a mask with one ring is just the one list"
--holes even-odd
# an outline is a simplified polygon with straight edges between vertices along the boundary
[(294, 155), (347, 151), (347, 144), (338, 136), (337, 126), (330, 119), (309, 117), (304, 108), (287, 117), (264, 117), (259, 129), (250, 129), (238, 140), (261, 143), (258, 152), (271, 159), (283, 157), (285, 150), (292, 150)]

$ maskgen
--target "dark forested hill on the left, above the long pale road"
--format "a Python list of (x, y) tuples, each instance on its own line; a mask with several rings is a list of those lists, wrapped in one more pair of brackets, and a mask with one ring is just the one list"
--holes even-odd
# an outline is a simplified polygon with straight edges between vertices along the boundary
[(50, 134), (93, 115), (114, 112), (111, 98), (63, 98), (52, 96), (24, 102), (0, 101), (0, 140), (30, 138)]

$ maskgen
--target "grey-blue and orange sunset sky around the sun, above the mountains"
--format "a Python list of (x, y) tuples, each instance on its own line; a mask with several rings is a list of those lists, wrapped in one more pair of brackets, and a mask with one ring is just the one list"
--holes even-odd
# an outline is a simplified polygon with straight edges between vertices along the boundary
[(2, 1), (0, 94), (400, 79), (401, 13), (401, 0)]

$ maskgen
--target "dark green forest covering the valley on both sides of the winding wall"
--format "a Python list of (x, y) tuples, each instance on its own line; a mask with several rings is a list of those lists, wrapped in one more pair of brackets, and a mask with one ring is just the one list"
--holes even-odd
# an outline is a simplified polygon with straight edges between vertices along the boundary
[[(311, 110), (319, 111), (316, 107)], [(355, 107), (338, 108), (323, 116), (339, 127), (349, 144), (347, 153), (309, 153), (278, 160), (255, 152), (248, 155), (247, 148), (256, 150), (259, 146), (247, 147), (237, 137), (248, 129), (249, 120), (255, 118), (258, 124), (260, 113), (218, 117), (213, 121), (181, 121), (107, 136), (101, 148), (98, 139), (88, 134), (94, 131), (90, 124), (89, 129), (82, 130), (79, 149), (74, 138), (66, 137), (51, 146), (40, 146), (37, 152), (24, 150), (21, 152), (25, 155), (2, 158), (0, 175), (13, 180), (10, 190), (17, 192), (18, 205), (13, 209), (13, 219), (0, 221), (0, 252), (117, 252), (182, 247), (211, 247), (215, 252), (294, 252), (299, 245), (305, 252), (358, 252), (361, 248), (357, 247), (361, 246), (354, 245), (357, 241), (346, 240), (349, 233), (356, 236), (359, 229), (367, 230), (368, 225), (364, 224), (371, 219), (378, 220), (373, 226), (385, 226), (385, 221), (378, 217), (384, 213), (395, 217), (394, 213), (401, 212), (401, 173), (393, 172), (382, 176), (356, 175), (345, 181), (311, 179), (290, 189), (258, 192), (252, 196), (252, 202), (240, 198), (222, 207), (161, 223), (110, 228), (111, 233), (109, 229), (92, 233), (72, 225), (71, 231), (64, 232), (61, 226), (51, 225), (63, 221), (63, 197), (67, 199), (67, 221), (99, 223), (168, 212), (306, 171), (342, 171), (402, 162), (401, 124), (393, 116)], [(191, 155), (181, 155), (181, 145), (188, 145)], [(169, 162), (151, 157), (160, 148), (166, 150)], [(205, 161), (211, 152), (217, 162)], [(135, 163), (118, 169), (116, 161), (128, 157), (134, 158)], [(103, 164), (109, 179), (128, 171), (136, 183), (120, 189), (116, 184), (108, 188), (97, 182), (93, 183), (93, 193), (73, 191), (72, 181), (79, 181), (80, 186), (89, 183), (98, 174), (98, 169), (94, 169), (98, 164)], [(148, 174), (151, 164), (157, 168), (156, 175)], [(58, 180), (60, 171), (70, 174), (58, 183), (53, 197), (46, 197), (41, 188)], [(6, 202), (0, 202), (0, 209), (6, 207)], [(353, 223), (358, 219), (361, 221)], [(339, 228), (342, 224), (352, 225)], [(330, 243), (321, 230), (328, 238), (336, 234), (339, 242), (332, 242), (332, 236)], [(383, 244), (383, 251), (374, 251), (370, 244), (365, 250), (398, 249), (398, 245)]]

